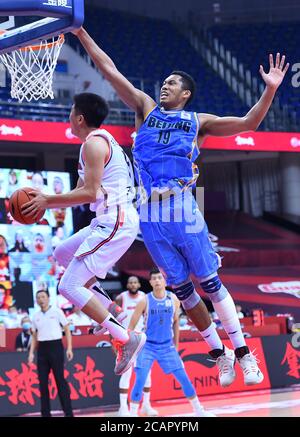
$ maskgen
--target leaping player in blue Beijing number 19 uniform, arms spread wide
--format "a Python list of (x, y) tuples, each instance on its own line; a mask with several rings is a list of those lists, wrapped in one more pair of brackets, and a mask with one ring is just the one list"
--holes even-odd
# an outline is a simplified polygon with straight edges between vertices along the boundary
[[(195, 94), (195, 82), (187, 73), (174, 71), (164, 80), (157, 105), (119, 72), (84, 29), (76, 35), (120, 99), (136, 114), (133, 156), (140, 187), (140, 226), (153, 260), (211, 348), (220, 384), (228, 386), (234, 381), (236, 360), (245, 384), (259, 384), (263, 375), (246, 346), (233, 299), (218, 276), (219, 258), (189, 188), (197, 179), (194, 161), (206, 135), (235, 135), (258, 128), (288, 70), (285, 56), (278, 53), (274, 63), (270, 55), (268, 73), (260, 66), (266, 88), (244, 117), (218, 117), (185, 111)], [(224, 348), (191, 274), (212, 301), (234, 351)]]

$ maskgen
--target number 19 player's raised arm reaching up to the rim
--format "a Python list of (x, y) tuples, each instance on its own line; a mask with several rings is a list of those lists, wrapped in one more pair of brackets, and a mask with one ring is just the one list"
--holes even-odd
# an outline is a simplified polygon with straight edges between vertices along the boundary
[(74, 32), (94, 64), (116, 90), (120, 99), (130, 109), (144, 117), (154, 106), (154, 100), (135, 88), (117, 69), (112, 59), (96, 44), (87, 31), (80, 28)]

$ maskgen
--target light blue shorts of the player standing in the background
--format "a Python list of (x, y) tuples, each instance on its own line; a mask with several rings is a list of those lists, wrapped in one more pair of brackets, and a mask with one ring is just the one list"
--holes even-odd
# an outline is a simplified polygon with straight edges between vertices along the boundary
[(146, 341), (145, 346), (138, 354), (135, 367), (150, 370), (155, 360), (167, 374), (183, 368), (182, 359), (173, 341), (167, 344)]

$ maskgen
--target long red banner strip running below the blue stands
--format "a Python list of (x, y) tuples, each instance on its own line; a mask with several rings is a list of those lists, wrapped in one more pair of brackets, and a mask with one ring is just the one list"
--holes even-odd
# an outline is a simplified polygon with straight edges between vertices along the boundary
[[(122, 146), (131, 146), (134, 127), (104, 125)], [(0, 141), (79, 144), (68, 123), (0, 119)], [(203, 149), (300, 152), (300, 132), (248, 132), (231, 137), (207, 137)]]

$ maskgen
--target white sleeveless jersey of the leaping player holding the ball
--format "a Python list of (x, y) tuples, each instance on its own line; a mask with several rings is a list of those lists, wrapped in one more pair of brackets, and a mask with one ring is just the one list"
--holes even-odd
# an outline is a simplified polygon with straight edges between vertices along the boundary
[[(98, 190), (97, 200), (90, 204), (91, 211), (101, 213), (109, 207), (132, 204), (134, 199), (134, 175), (131, 162), (126, 153), (119, 146), (114, 137), (104, 129), (91, 132), (86, 141), (91, 137), (102, 137), (109, 145), (109, 156), (104, 165), (101, 189)], [(84, 145), (79, 153), (78, 174), (84, 181)]]

